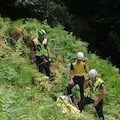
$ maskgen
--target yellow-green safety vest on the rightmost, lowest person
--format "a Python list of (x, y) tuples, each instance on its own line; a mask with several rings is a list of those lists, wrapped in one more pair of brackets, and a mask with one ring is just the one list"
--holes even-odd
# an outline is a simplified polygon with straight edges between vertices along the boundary
[(89, 85), (89, 92), (88, 92), (88, 97), (93, 99), (93, 100), (97, 100), (98, 97), (100, 96), (101, 92), (100, 92), (100, 85), (104, 83), (103, 80), (101, 80), (100, 78), (97, 79), (97, 81), (93, 84), (92, 81), (90, 80), (88, 82)]

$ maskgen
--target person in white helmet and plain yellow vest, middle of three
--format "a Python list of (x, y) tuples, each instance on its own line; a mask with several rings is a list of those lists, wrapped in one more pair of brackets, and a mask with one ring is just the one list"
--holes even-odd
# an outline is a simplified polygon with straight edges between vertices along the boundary
[[(88, 58), (85, 58), (84, 60), (84, 54), (82, 52), (77, 53), (77, 59), (71, 63), (70, 66), (70, 72), (69, 72), (69, 78), (70, 82), (67, 86), (67, 95), (71, 96), (72, 102), (73, 100), (73, 95), (72, 95), (72, 89), (75, 85), (79, 85), (80, 89), (80, 98), (84, 98), (84, 90), (83, 90), (83, 83), (85, 81), (84, 74), (85, 72), (89, 72), (89, 67), (87, 65)], [(72, 75), (74, 77), (72, 77)]]

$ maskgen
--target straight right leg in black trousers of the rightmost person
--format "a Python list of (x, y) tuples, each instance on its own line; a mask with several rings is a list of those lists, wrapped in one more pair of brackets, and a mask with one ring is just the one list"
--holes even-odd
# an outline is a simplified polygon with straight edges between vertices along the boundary
[(102, 118), (104, 120), (104, 115), (103, 115), (103, 100), (101, 100), (98, 105), (95, 107), (97, 114), (99, 118)]

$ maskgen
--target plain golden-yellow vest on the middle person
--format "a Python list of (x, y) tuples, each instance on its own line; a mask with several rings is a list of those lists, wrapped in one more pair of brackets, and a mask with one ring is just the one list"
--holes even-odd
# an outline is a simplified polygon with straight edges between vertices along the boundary
[(80, 62), (78, 63), (77, 60), (72, 63), (73, 64), (73, 74), (74, 76), (82, 76), (84, 75), (84, 67), (85, 67), (85, 62)]

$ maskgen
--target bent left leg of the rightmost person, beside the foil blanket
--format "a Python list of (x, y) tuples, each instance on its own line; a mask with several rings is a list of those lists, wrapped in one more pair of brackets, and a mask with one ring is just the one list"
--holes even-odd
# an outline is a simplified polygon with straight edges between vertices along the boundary
[(93, 102), (94, 100), (92, 100), (91, 98), (88, 98), (88, 97), (83, 98), (82, 100), (78, 102), (79, 110), (82, 112), (82, 110), (84, 110), (85, 105), (93, 103)]

